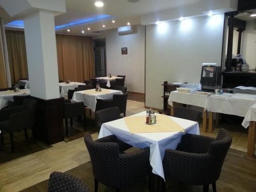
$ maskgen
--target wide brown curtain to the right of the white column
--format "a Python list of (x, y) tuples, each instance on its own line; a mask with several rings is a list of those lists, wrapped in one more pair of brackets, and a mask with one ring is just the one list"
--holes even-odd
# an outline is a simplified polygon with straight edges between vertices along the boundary
[(94, 78), (92, 37), (57, 34), (56, 44), (59, 79), (83, 82)]

